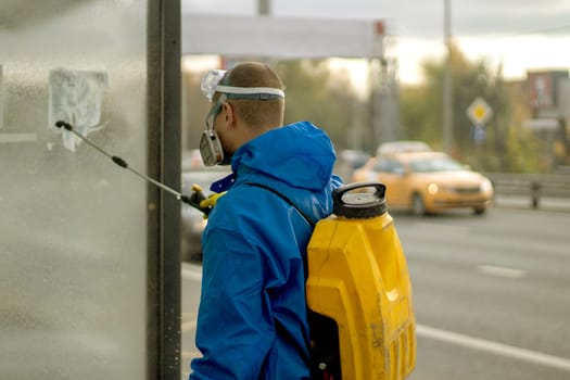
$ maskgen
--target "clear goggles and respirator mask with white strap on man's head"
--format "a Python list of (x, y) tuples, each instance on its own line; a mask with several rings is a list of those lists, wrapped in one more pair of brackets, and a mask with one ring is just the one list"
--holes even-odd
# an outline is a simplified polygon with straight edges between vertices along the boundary
[(205, 166), (229, 165), (231, 162), (231, 155), (224, 151), (219, 137), (214, 130), (214, 122), (221, 112), (221, 105), (228, 99), (269, 100), (284, 98), (284, 92), (278, 88), (226, 86), (229, 81), (229, 75), (226, 76), (226, 73), (227, 71), (224, 69), (213, 69), (202, 78), (200, 86), (202, 93), (211, 102), (216, 92), (221, 93), (207, 113), (206, 129), (200, 139), (200, 154)]

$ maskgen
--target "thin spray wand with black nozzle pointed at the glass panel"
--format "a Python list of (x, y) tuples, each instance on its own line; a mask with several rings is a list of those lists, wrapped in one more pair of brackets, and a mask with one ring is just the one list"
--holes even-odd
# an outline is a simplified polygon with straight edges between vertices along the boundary
[(100, 147), (98, 147), (97, 144), (94, 144), (93, 142), (91, 142), (90, 140), (88, 140), (85, 136), (83, 136), (81, 134), (77, 132), (73, 126), (69, 124), (69, 123), (65, 123), (63, 121), (59, 121), (59, 122), (55, 122), (55, 127), (58, 128), (64, 128), (65, 130), (74, 134), (75, 136), (77, 136), (78, 138), (80, 138), (81, 140), (84, 140), (87, 144), (89, 144), (90, 147), (92, 147), (93, 149), (96, 149), (97, 151), (99, 151), (100, 153), (106, 155), (107, 157), (110, 157), (116, 165), (127, 169), (127, 170), (130, 170), (131, 173), (134, 173), (135, 175), (148, 180), (149, 182), (157, 186), (159, 188), (169, 192), (170, 194), (175, 195), (177, 200), (179, 201), (182, 201), (183, 203), (201, 211), (202, 213), (204, 213), (205, 215), (208, 215), (210, 212), (212, 211), (212, 206), (207, 206), (207, 207), (202, 207), (200, 206), (200, 202), (205, 200), (206, 199), (206, 195), (204, 194), (204, 192), (202, 191), (202, 189), (194, 185), (192, 187), (192, 194), (191, 195), (185, 195), (169, 187), (167, 187), (166, 185), (162, 183), (162, 182), (159, 182), (157, 180), (155, 179), (152, 179), (150, 178), (149, 176), (145, 176), (143, 175), (142, 173), (131, 168), (127, 162), (123, 159), (121, 159), (119, 156), (116, 156), (116, 155), (112, 155), (107, 152), (105, 152), (103, 149), (101, 149)]

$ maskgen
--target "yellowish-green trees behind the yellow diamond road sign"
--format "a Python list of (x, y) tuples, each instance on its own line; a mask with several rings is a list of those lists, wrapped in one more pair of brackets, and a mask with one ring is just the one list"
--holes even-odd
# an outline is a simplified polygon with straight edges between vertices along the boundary
[[(502, 67), (492, 68), (484, 59), (470, 62), (457, 47), (452, 47), (453, 137), (451, 152), (459, 161), (479, 170), (541, 172), (540, 143), (536, 136), (522, 132), (521, 89), (510, 89), (503, 80)], [(401, 90), (401, 123), (406, 139), (423, 140), (441, 149), (443, 140), (443, 77), (445, 61), (422, 63), (426, 84)], [(485, 124), (486, 138), (477, 144), (467, 109), (482, 98), (493, 110)]]

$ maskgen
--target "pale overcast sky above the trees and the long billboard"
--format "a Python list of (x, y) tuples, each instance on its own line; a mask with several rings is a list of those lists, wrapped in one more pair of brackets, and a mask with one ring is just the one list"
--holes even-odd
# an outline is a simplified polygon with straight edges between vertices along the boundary
[[(387, 56), (402, 83), (422, 80), (421, 62), (445, 53), (444, 0), (268, 0), (271, 16), (381, 20)], [(507, 79), (527, 71), (570, 69), (569, 0), (449, 0), (451, 34), (464, 54), (503, 67)], [(254, 15), (258, 0), (182, 0), (182, 12)], [(339, 61), (358, 68), (363, 62)], [(356, 80), (365, 80), (357, 78)]]

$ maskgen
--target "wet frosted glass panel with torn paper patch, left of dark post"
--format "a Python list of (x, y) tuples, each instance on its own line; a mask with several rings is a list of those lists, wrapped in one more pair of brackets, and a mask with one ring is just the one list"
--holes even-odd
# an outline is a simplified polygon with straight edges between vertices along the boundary
[(0, 2), (0, 379), (144, 379), (147, 2)]

